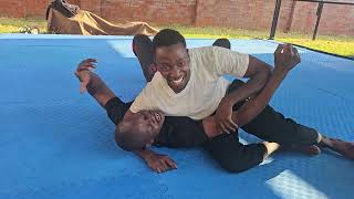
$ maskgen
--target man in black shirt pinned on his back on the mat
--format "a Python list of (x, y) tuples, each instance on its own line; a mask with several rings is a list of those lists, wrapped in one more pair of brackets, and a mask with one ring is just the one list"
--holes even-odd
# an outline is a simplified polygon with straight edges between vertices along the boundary
[[(215, 44), (219, 44), (220, 41), (221, 46), (229, 45), (225, 44), (225, 42), (228, 43), (227, 40), (217, 40)], [(139, 61), (142, 61), (140, 56)], [(132, 103), (122, 102), (102, 80), (91, 71), (95, 69), (95, 62), (93, 59), (85, 60), (79, 65), (75, 72), (81, 81), (81, 92), (83, 93), (87, 90), (100, 105), (107, 111), (111, 121), (117, 125), (115, 134), (116, 142), (123, 149), (125, 149), (124, 143), (129, 143), (131, 145), (132, 143), (146, 143), (147, 145), (154, 144), (165, 147), (201, 146), (221, 167), (231, 172), (243, 171), (259, 165), (266, 157), (279, 148), (279, 144), (288, 148), (302, 150), (310, 155), (316, 155), (321, 151), (320, 148), (315, 146), (319, 144), (319, 134), (315, 129), (296, 124), (292, 119), (284, 118), (282, 114), (267, 105), (284, 78), (284, 76), (281, 75), (273, 75), (273, 78), (270, 78), (273, 82), (269, 83), (268, 87), (266, 85), (264, 90), (258, 96), (246, 100), (235, 106), (235, 111), (238, 111), (244, 103), (261, 105), (258, 108), (253, 108), (253, 111), (258, 109), (256, 111), (259, 113), (256, 114), (258, 116), (250, 123), (243, 125), (242, 129), (268, 140), (264, 143), (275, 146), (273, 148), (264, 147), (264, 145), (261, 144), (240, 145), (238, 132), (233, 132), (232, 134), (216, 132), (212, 116), (202, 121), (194, 121), (188, 117), (165, 117), (159, 111), (140, 112), (136, 124), (134, 124), (137, 129), (136, 135), (133, 136), (134, 139), (122, 140), (119, 128), (122, 129), (124, 126), (119, 126), (119, 122), (123, 119)], [(149, 75), (153, 75), (153, 72), (154, 71), (148, 74), (148, 72), (144, 71), (147, 81), (150, 80)], [(242, 82), (236, 80), (232, 82), (228, 92), (232, 92), (241, 85)], [(244, 113), (243, 115), (247, 114), (249, 113)], [(240, 113), (238, 113), (237, 116), (242, 116), (242, 114), (240, 115)], [(142, 135), (138, 134), (138, 132), (144, 132), (145, 134)], [(353, 151), (352, 144), (341, 140), (333, 142), (331, 144), (334, 144), (334, 146), (326, 143), (320, 143), (319, 146), (332, 147), (331, 149), (343, 154), (345, 157), (353, 158), (350, 153)], [(345, 145), (342, 145), (343, 143)], [(144, 147), (136, 150), (135, 154), (140, 156), (147, 165), (157, 172), (177, 168), (176, 163), (169, 157), (158, 155), (149, 148)]]

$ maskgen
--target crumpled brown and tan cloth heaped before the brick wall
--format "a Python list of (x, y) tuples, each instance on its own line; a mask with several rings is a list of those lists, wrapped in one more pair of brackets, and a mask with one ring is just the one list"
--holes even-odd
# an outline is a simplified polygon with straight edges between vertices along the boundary
[(83, 35), (155, 35), (158, 30), (146, 22), (128, 22), (125, 24), (113, 24), (103, 18), (84, 10), (77, 14), (66, 18), (60, 11), (50, 9), (48, 15), (48, 31), (59, 34), (83, 34)]

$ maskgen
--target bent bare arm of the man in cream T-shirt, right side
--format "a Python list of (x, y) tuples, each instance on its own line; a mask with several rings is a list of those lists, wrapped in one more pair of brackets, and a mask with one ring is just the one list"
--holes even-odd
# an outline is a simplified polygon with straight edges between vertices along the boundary
[(232, 106), (261, 91), (269, 74), (270, 66), (267, 63), (253, 56), (249, 56), (249, 65), (244, 74), (244, 77), (249, 77), (248, 82), (240, 87), (237, 93), (231, 92), (227, 94), (217, 108), (215, 119), (219, 130), (230, 133), (238, 128), (237, 124), (232, 121)]

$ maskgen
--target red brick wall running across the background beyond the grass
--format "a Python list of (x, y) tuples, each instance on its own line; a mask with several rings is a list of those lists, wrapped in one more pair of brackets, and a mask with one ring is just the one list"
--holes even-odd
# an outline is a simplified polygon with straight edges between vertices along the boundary
[[(0, 15), (43, 17), (51, 0), (0, 0)], [(215, 25), (269, 31), (275, 0), (67, 0), (110, 21)], [(353, 0), (354, 2), (354, 0)], [(282, 0), (278, 31), (312, 33), (316, 3)], [(354, 6), (325, 4), (319, 34), (354, 35)], [(291, 22), (291, 23), (290, 23)]]

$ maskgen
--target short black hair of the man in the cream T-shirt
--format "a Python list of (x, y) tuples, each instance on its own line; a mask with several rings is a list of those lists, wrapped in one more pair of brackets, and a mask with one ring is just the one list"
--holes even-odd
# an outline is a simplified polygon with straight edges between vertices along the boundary
[(186, 39), (176, 30), (163, 29), (160, 30), (153, 40), (153, 52), (155, 54), (156, 49), (160, 46), (169, 46), (181, 43), (185, 48)]

